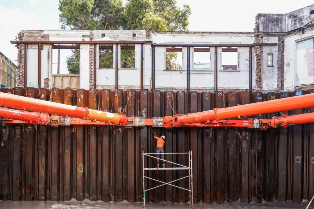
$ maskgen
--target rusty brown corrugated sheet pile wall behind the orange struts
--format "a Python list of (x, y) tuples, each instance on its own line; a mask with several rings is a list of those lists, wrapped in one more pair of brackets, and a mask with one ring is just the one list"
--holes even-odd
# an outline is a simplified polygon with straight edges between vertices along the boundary
[[(172, 116), (284, 98), (310, 91), (281, 93), (184, 92), (83, 89), (3, 89), (3, 92), (79, 107), (123, 112), (145, 118)], [(169, 100), (167, 100), (167, 95)], [(171, 107), (174, 107), (172, 110)], [(313, 112), (314, 108), (282, 114)], [(281, 113), (252, 116), (271, 118)], [(229, 118), (235, 119), (235, 118)], [(244, 118), (245, 119), (245, 118)], [(314, 193), (314, 125), (250, 130), (241, 128), (152, 128), (165, 135), (165, 152), (193, 151), (194, 202), (301, 202)], [(149, 127), (1, 124), (0, 198), (2, 200), (142, 201), (141, 152), (154, 152)], [(165, 155), (188, 165), (187, 159)], [(155, 167), (154, 159), (144, 162)], [(166, 167), (171, 167), (166, 164)], [(157, 179), (156, 171), (145, 175)], [(159, 171), (169, 182), (185, 170)], [(154, 187), (155, 181), (147, 181)], [(188, 188), (188, 180), (176, 185)], [(146, 187), (147, 188), (147, 187)], [(188, 192), (171, 186), (147, 192), (148, 201), (188, 200)]]

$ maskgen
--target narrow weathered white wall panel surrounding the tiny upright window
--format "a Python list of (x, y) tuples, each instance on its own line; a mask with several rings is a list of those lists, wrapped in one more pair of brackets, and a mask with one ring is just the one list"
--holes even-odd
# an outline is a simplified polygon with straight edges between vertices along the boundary
[[(278, 37), (263, 37), (263, 43), (278, 43)], [(273, 66), (267, 66), (268, 54), (273, 54)], [(278, 82), (278, 46), (263, 46), (262, 60), (262, 90), (274, 91)]]

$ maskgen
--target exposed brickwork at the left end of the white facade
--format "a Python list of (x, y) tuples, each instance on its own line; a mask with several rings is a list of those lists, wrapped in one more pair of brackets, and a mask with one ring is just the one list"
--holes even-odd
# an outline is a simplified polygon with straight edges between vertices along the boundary
[[(49, 41), (49, 35), (43, 34), (44, 30), (22, 30), (18, 33), (18, 39), (20, 41)], [(28, 48), (38, 48), (38, 44), (28, 44)], [(24, 87), (25, 75), (24, 75), (24, 44), (18, 44), (18, 87)]]

